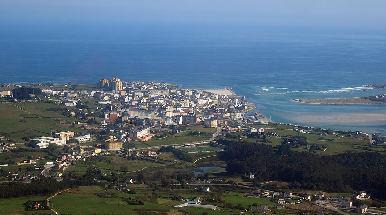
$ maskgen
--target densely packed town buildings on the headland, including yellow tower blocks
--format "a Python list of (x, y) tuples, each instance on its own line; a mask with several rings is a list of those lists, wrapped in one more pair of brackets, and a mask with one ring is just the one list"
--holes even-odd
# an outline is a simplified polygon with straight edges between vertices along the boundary
[(122, 125), (207, 125), (228, 124), (242, 119), (247, 108), (241, 97), (218, 95), (205, 90), (179, 89), (166, 83), (122, 82), (119, 78), (100, 79), (89, 97), (107, 104), (103, 123)]

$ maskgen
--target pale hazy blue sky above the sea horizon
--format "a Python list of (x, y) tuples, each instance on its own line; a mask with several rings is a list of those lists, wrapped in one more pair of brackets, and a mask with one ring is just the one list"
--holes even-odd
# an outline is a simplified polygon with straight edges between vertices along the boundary
[(377, 29), (384, 0), (1, 0), (2, 24), (75, 22)]

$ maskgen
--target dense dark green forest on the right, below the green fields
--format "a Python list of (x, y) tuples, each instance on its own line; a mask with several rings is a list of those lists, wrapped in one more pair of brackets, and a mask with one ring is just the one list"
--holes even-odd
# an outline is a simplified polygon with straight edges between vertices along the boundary
[(221, 140), (228, 145), (227, 172), (254, 172), (257, 181), (296, 182), (299, 188), (328, 192), (366, 190), (378, 198), (386, 193), (386, 155), (371, 152), (320, 156), (293, 152), (289, 147), (274, 152), (271, 146)]

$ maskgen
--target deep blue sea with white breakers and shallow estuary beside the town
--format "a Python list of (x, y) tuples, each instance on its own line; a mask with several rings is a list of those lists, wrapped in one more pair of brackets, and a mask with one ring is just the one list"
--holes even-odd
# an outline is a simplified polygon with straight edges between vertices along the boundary
[[(141, 29), (141, 28), (139, 28)], [(232, 87), (275, 122), (386, 133), (386, 105), (294, 98), (386, 93), (386, 37), (239, 30), (2, 31), (0, 83), (164, 81)]]

